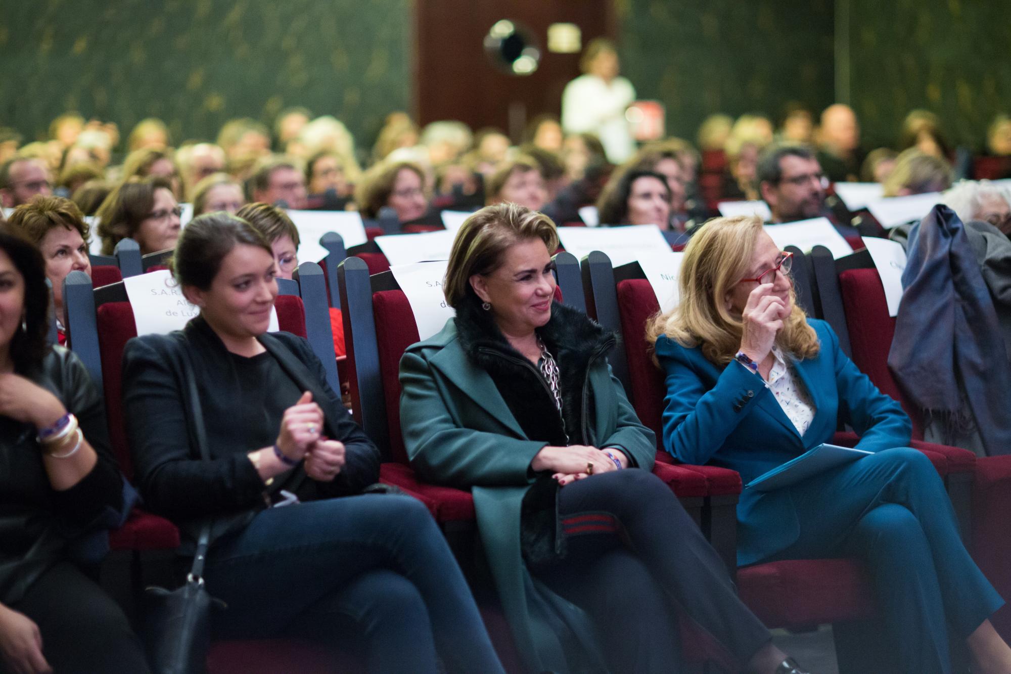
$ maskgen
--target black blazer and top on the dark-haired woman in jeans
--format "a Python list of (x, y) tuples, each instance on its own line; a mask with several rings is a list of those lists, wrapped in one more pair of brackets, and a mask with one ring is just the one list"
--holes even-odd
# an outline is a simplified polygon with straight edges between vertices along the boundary
[[(266, 507), (267, 488), (247, 453), (274, 443), (284, 410), (302, 391), (311, 392), (323, 408), (324, 431), (344, 442), (347, 462), (327, 483), (311, 480), (299, 466), (281, 478), (284, 488), (308, 501), (357, 494), (379, 479), (378, 450), (327, 385), (323, 363), (308, 342), (285, 332), (258, 339), (267, 354), (237, 363), (197, 317), (181, 331), (135, 337), (123, 351), (123, 412), (134, 484), (147, 507), (176, 522), (190, 541), (207, 517), (214, 520), (213, 540), (243, 528)], [(208, 434), (208, 461), (200, 458), (188, 418), (193, 403), (183, 378), (187, 352)], [(275, 393), (269, 408), (255, 402)]]

